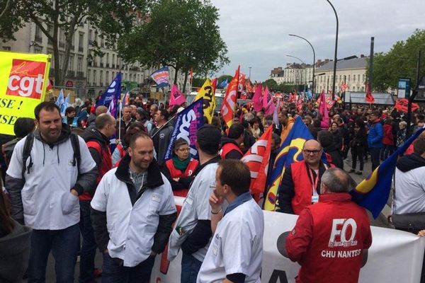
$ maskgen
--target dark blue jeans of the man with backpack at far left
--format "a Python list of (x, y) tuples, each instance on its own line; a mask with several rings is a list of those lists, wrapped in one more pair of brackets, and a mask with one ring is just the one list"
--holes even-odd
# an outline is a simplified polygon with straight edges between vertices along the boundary
[(75, 263), (79, 250), (79, 226), (62, 230), (33, 230), (28, 265), (28, 283), (44, 283), (47, 258), (52, 250), (57, 283), (74, 283)]

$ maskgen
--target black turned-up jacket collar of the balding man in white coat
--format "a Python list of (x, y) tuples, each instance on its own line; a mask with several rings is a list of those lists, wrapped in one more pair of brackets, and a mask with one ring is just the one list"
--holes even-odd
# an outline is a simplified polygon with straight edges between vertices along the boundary
[[(118, 165), (117, 171), (115, 171), (115, 176), (118, 180), (123, 181), (124, 183), (131, 183), (132, 180), (130, 178), (130, 156), (126, 154), (120, 161)], [(147, 168), (147, 179), (146, 179), (146, 187), (154, 189), (155, 187), (159, 187), (160, 185), (164, 185), (164, 180), (162, 180), (161, 171), (159, 171), (158, 163), (155, 159), (152, 160), (149, 167)]]

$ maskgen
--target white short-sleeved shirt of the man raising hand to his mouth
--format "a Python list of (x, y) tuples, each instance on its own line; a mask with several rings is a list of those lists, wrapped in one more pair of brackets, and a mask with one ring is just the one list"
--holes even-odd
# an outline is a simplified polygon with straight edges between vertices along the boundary
[(245, 282), (260, 283), (263, 232), (263, 212), (254, 200), (227, 213), (217, 225), (196, 282), (222, 282), (227, 275), (243, 273)]

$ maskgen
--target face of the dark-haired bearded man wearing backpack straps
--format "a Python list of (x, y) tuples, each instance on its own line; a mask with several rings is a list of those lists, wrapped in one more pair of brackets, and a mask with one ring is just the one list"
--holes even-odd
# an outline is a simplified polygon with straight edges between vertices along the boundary
[(47, 142), (55, 142), (62, 130), (62, 119), (59, 111), (40, 111), (40, 120), (35, 120), (35, 124), (40, 129), (41, 137)]

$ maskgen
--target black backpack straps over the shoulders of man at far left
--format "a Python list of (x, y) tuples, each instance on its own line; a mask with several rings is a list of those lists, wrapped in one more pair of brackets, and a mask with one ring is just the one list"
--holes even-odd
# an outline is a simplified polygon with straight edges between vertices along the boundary
[[(79, 140), (77, 134), (74, 132), (71, 133), (69, 136), (71, 139), (72, 144), (72, 150), (74, 151), (74, 160), (72, 161), (72, 166), (77, 166), (78, 174), (80, 172), (79, 166), (81, 163), (81, 154), (79, 149)], [(31, 158), (31, 149), (33, 149), (33, 143), (34, 143), (34, 134), (31, 132), (28, 134), (25, 138), (25, 144), (23, 145), (23, 151), (22, 151), (22, 180), (25, 180), (25, 171), (27, 171), (27, 174), (30, 173), (30, 168), (33, 167), (33, 159)], [(28, 167), (26, 166), (26, 161), (28, 160), (28, 157), (30, 158), (30, 163), (28, 164)]]

